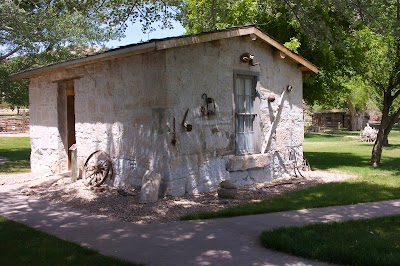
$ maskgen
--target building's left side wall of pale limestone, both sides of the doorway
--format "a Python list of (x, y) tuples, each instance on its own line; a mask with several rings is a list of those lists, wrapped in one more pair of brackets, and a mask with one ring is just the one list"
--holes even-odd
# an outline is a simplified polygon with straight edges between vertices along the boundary
[[(54, 174), (67, 170), (67, 147), (60, 125), (59, 89), (74, 79), (75, 136), (78, 167), (96, 150), (113, 159), (115, 185), (141, 185), (150, 167), (165, 160), (168, 112), (162, 84), (164, 52), (129, 56), (60, 71), (30, 84), (32, 171)], [(61, 84), (61, 85), (60, 85)], [(65, 137), (64, 137), (65, 138)]]

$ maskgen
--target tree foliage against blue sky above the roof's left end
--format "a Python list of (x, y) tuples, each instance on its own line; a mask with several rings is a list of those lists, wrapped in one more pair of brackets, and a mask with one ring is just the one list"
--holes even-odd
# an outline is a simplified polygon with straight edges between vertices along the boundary
[(15, 55), (47, 53), (116, 38), (104, 27), (94, 1), (4, 0), (0, 3), (0, 62)]

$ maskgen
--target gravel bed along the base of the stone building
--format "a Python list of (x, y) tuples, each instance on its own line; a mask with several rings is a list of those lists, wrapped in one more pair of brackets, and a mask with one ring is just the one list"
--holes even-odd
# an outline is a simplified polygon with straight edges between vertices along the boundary
[[(57, 181), (40, 186), (30, 185), (21, 193), (30, 197), (39, 197), (54, 203), (63, 203), (76, 209), (93, 214), (106, 215), (119, 221), (138, 224), (166, 223), (177, 221), (179, 217), (203, 211), (221, 210), (243, 203), (257, 202), (274, 195), (320, 183), (335, 182), (350, 178), (343, 173), (313, 171), (308, 179), (274, 181), (240, 187), (236, 199), (218, 199), (217, 193), (166, 197), (156, 203), (140, 204), (139, 190), (116, 189), (102, 186), (101, 192), (86, 187), (82, 180), (75, 183), (69, 177), (60, 177)], [(0, 176), (0, 184), (13, 184), (33, 180), (30, 173)]]

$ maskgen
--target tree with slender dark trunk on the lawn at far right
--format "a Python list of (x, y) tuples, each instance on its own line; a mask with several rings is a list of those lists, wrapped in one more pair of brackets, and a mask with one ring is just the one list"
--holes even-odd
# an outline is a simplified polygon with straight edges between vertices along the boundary
[[(400, 108), (396, 108), (400, 95), (400, 0), (321, 0), (312, 5), (301, 0), (284, 2), (305, 32), (314, 25), (316, 29), (326, 30), (325, 39), (335, 37), (334, 42), (329, 41), (332, 47), (346, 47), (335, 50), (339, 56), (344, 51), (343, 73), (361, 76), (380, 92), (382, 120), (371, 155), (371, 165), (377, 167), (382, 146), (400, 116)], [(321, 10), (336, 14), (338, 19), (327, 23), (332, 20), (327, 20)], [(309, 23), (310, 20), (313, 22)], [(312, 37), (312, 32), (307, 36)]]

